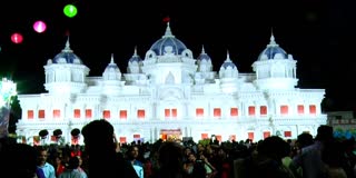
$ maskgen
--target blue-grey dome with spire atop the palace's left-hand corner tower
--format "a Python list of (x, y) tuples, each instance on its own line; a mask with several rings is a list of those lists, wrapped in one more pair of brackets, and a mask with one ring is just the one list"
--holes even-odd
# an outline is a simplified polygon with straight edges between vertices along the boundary
[(81, 59), (73, 53), (73, 51), (69, 47), (69, 39), (66, 42), (66, 48), (62, 49), (60, 53), (58, 53), (53, 60), (52, 63), (76, 63), (76, 65), (82, 65)]

